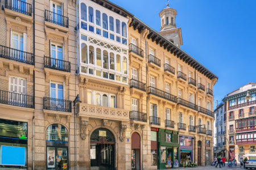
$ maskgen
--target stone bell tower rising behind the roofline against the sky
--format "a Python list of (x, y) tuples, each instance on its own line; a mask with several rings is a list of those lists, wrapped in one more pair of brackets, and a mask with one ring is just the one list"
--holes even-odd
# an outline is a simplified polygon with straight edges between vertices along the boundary
[(164, 8), (160, 13), (161, 27), (160, 35), (165, 36), (168, 40), (172, 41), (175, 45), (183, 45), (181, 28), (176, 28), (176, 15), (177, 11), (169, 7), (167, 1), (166, 8)]

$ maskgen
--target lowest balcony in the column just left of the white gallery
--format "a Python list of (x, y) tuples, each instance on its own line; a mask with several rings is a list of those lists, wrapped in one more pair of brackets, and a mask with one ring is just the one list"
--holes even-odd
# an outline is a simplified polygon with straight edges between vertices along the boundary
[(71, 101), (44, 97), (44, 109), (60, 112), (71, 112)]

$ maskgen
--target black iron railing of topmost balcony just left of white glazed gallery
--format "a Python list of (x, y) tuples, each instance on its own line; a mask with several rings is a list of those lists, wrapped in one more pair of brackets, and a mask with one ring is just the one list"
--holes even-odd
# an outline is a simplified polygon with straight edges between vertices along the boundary
[(57, 14), (55, 12), (45, 10), (44, 20), (53, 24), (61, 25), (68, 28), (68, 17), (64, 15)]

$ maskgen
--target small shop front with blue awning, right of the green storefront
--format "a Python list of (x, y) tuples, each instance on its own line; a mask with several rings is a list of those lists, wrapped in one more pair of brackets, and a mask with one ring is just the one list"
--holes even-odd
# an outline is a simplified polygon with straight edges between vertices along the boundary
[(188, 165), (193, 162), (193, 137), (180, 135), (180, 163)]

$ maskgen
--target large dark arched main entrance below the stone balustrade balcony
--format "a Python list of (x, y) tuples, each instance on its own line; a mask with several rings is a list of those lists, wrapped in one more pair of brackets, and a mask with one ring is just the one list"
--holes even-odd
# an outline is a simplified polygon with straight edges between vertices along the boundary
[(106, 128), (98, 128), (90, 135), (91, 169), (115, 168), (115, 137)]

